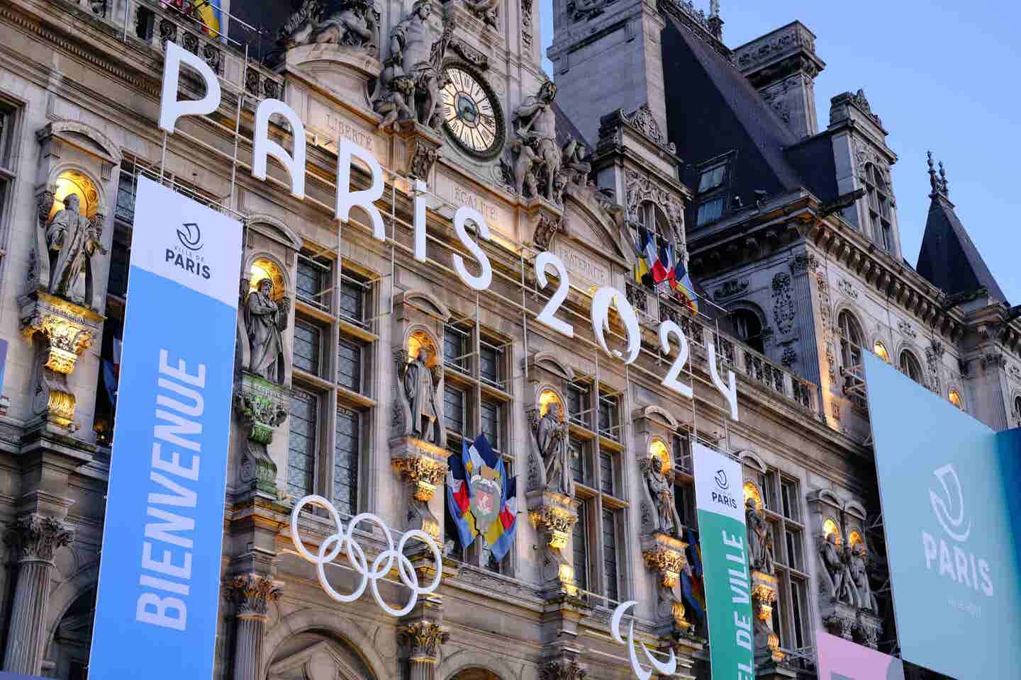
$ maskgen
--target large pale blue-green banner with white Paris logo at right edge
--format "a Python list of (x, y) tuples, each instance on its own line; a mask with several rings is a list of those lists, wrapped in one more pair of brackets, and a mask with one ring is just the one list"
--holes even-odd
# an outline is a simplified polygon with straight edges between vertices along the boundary
[(865, 371), (903, 658), (958, 680), (1021, 677), (1018, 478), (1006, 458), (1021, 437), (869, 353)]

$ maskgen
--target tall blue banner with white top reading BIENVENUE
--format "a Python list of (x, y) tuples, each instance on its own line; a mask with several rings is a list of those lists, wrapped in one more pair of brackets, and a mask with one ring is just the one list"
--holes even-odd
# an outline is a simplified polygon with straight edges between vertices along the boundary
[(210, 678), (241, 224), (139, 178), (90, 678)]

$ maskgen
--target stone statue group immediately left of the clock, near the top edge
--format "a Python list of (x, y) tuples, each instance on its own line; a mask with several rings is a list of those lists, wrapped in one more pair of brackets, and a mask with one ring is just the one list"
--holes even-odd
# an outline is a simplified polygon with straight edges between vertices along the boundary
[[(443, 56), (453, 27), (447, 23), (439, 33), (430, 21), (433, 11), (431, 0), (416, 0), (411, 12), (390, 32), (390, 56), (380, 73), (382, 87), (373, 106), (388, 117), (396, 110), (397, 120), (415, 119), (438, 129), (443, 122), (437, 111), (443, 87)], [(405, 107), (399, 105), (395, 93), (404, 99)]]

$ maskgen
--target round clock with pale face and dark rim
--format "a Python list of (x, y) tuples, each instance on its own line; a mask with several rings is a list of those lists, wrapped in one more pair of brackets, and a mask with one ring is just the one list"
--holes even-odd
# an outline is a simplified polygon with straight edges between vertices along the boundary
[(443, 127), (471, 156), (493, 158), (503, 148), (503, 112), (495, 93), (475, 69), (447, 66), (442, 94)]

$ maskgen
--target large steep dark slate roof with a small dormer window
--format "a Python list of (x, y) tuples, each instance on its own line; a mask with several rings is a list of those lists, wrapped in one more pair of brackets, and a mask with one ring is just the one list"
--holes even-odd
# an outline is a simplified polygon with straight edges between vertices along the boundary
[(730, 61), (669, 14), (663, 60), (667, 128), (681, 158), (700, 163), (736, 151), (730, 191), (745, 203), (757, 190), (807, 185), (784, 154), (794, 134)]

